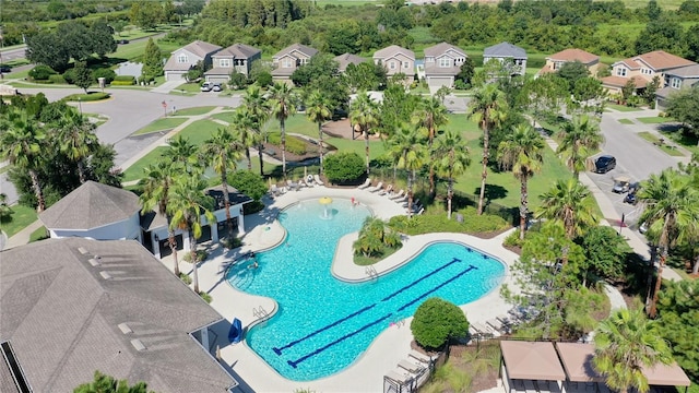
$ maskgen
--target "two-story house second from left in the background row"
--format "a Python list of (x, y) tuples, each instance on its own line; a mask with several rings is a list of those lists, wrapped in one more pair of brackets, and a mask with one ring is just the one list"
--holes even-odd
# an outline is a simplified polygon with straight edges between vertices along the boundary
[(262, 50), (245, 44), (234, 44), (214, 53), (213, 68), (204, 72), (209, 82), (228, 82), (233, 71), (250, 75), (252, 62), (260, 60)]

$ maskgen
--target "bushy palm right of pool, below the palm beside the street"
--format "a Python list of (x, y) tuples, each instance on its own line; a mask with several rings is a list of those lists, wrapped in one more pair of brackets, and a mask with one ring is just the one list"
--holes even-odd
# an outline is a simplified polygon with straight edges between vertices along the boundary
[[(597, 222), (592, 211), (590, 190), (576, 179), (557, 180), (550, 190), (538, 198), (542, 205), (536, 217), (562, 223), (568, 240), (582, 235), (584, 228)], [(564, 252), (561, 260), (564, 264), (568, 263), (567, 252)]]

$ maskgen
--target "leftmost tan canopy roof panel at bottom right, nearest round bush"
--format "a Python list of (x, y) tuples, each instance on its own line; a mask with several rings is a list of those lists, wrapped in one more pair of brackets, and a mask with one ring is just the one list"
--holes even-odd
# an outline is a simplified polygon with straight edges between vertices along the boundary
[(500, 342), (507, 372), (513, 379), (562, 381), (566, 373), (553, 343)]

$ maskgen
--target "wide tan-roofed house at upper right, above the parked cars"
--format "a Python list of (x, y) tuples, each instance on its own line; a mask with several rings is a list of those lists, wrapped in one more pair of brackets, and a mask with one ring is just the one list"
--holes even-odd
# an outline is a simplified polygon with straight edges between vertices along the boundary
[(619, 94), (621, 87), (631, 80), (638, 91), (645, 88), (654, 76), (660, 79), (663, 86), (666, 72), (694, 64), (696, 62), (663, 50), (654, 50), (613, 63), (612, 75), (602, 79), (602, 86), (612, 94)]

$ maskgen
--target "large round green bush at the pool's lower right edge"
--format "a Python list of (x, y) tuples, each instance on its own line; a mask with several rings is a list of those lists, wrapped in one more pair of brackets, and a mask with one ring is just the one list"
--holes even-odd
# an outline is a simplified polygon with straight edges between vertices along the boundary
[(411, 332), (422, 347), (438, 349), (452, 337), (464, 337), (469, 333), (469, 321), (457, 305), (429, 298), (415, 311)]

